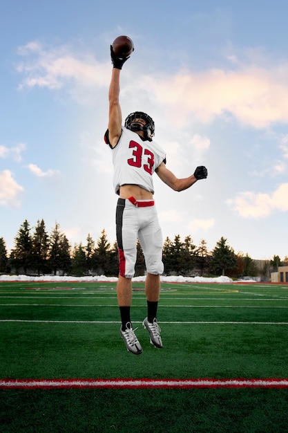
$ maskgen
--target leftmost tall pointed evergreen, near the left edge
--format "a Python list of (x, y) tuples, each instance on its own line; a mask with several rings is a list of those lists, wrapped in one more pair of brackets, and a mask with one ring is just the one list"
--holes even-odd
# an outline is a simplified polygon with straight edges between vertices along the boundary
[(15, 266), (17, 272), (23, 268), (24, 274), (27, 273), (32, 264), (32, 237), (30, 234), (30, 223), (27, 219), (20, 225), (17, 236), (15, 237), (15, 249), (10, 257), (11, 265)]

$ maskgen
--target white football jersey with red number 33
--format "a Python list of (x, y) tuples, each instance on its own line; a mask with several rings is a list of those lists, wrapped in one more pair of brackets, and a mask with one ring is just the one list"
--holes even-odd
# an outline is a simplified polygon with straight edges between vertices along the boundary
[[(106, 143), (108, 134), (106, 134)], [(122, 127), (122, 134), (115, 147), (111, 147), (113, 154), (114, 176), (113, 186), (119, 194), (121, 185), (138, 185), (154, 194), (152, 175), (155, 169), (165, 160), (165, 152), (154, 141), (143, 141), (140, 136)]]

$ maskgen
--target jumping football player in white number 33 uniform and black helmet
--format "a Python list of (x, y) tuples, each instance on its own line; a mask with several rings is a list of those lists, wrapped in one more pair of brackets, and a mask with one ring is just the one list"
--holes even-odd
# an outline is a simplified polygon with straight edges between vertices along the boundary
[(153, 119), (142, 111), (129, 114), (122, 126), (122, 111), (119, 104), (119, 77), (124, 62), (129, 57), (119, 58), (111, 46), (113, 64), (109, 87), (108, 129), (104, 140), (111, 147), (113, 156), (115, 193), (119, 195), (116, 209), (116, 232), (119, 252), (119, 277), (117, 301), (126, 348), (135, 355), (142, 353), (131, 323), (132, 277), (135, 272), (137, 239), (144, 252), (146, 264), (145, 293), (147, 317), (143, 321), (150, 342), (162, 348), (160, 326), (157, 323), (157, 305), (160, 297), (160, 275), (162, 263), (162, 230), (153, 200), (153, 173), (175, 191), (191, 187), (199, 179), (207, 178), (206, 167), (200, 166), (194, 174), (177, 178), (166, 168), (166, 156), (162, 148), (153, 141), (155, 125)]

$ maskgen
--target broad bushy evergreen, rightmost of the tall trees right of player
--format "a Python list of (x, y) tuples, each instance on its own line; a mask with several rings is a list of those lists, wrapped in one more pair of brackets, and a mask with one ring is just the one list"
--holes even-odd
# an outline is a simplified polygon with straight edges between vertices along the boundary
[(213, 249), (210, 266), (215, 275), (225, 275), (227, 270), (237, 268), (234, 250), (227, 245), (227, 239), (224, 239), (224, 237), (221, 237)]

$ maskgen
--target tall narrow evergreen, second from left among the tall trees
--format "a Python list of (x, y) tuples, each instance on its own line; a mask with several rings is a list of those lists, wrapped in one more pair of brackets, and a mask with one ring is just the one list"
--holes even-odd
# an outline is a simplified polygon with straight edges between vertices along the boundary
[(49, 249), (49, 237), (46, 232), (44, 220), (37, 221), (35, 232), (32, 236), (32, 267), (37, 269), (38, 275), (47, 271), (47, 256)]

